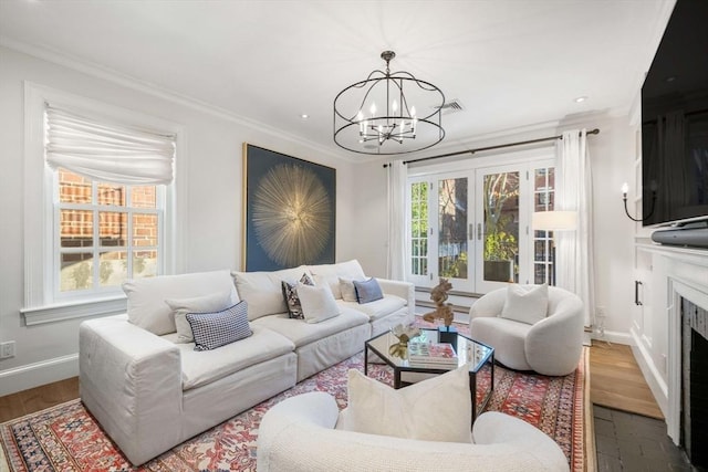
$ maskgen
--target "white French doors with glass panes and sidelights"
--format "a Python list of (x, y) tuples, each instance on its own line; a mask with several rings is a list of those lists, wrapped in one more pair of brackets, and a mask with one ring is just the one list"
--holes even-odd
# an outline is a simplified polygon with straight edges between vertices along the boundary
[(539, 159), (408, 179), (408, 280), (487, 293), (508, 283), (543, 283), (552, 233), (531, 213), (553, 209), (553, 161)]

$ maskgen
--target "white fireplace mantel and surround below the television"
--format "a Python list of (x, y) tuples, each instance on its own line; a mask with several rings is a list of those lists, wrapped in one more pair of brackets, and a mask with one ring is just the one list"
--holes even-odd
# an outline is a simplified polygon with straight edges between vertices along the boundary
[[(700, 463), (704, 460), (701, 454), (708, 450), (694, 448), (696, 441), (691, 439), (708, 434), (706, 417), (696, 410), (696, 407), (708, 403), (708, 388), (705, 379), (704, 387), (691, 388), (688, 382), (704, 378), (708, 368), (691, 375), (690, 370), (685, 373), (684, 367), (690, 368), (691, 348), (695, 368), (702, 365), (699, 358), (708, 361), (708, 355), (702, 350), (705, 339), (700, 334), (708, 331), (708, 321), (704, 318), (708, 310), (708, 250), (666, 247), (642, 240), (637, 240), (635, 248), (635, 276), (643, 290), (638, 294), (639, 300), (635, 300), (632, 348), (664, 413), (667, 434), (686, 450), (691, 462)], [(702, 400), (691, 402), (696, 394)], [(686, 411), (685, 416), (683, 411)]]

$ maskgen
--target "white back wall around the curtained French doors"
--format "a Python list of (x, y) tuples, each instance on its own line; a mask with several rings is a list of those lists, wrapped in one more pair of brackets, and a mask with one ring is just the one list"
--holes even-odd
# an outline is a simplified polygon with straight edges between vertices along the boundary
[[(593, 115), (582, 120), (574, 119), (572, 124), (534, 129), (530, 134), (498, 135), (470, 143), (468, 148), (555, 136), (565, 129), (583, 127), (600, 128), (598, 135), (587, 138), (594, 178), (595, 305), (606, 311), (606, 338), (629, 344), (629, 310), (634, 296), (634, 227), (624, 214), (620, 191), (622, 182), (632, 181), (633, 172), (635, 136), (628, 116)], [(386, 171), (381, 162), (372, 162), (356, 166), (354, 172), (355, 181), (362, 182), (360, 191), (355, 189), (357, 204), (354, 227), (366, 229), (365, 232), (360, 231), (361, 247), (366, 251), (361, 251), (358, 259), (367, 273), (383, 276), (386, 273), (386, 213), (379, 209), (386, 208)]]

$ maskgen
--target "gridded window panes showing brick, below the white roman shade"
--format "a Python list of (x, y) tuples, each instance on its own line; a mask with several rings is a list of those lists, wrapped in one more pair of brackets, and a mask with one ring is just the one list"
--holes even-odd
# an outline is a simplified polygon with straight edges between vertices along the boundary
[(102, 182), (64, 168), (54, 172), (58, 298), (117, 291), (127, 279), (163, 272), (163, 187)]

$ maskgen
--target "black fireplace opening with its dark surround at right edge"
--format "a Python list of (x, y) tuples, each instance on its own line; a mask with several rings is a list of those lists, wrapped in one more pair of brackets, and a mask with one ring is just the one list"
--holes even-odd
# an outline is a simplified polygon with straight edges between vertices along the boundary
[(681, 297), (680, 313), (681, 445), (696, 468), (708, 470), (708, 311)]

